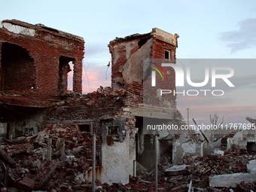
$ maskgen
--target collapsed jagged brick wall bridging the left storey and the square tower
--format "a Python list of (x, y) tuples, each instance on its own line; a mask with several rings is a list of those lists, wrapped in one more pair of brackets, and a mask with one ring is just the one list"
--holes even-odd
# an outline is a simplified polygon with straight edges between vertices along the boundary
[[(127, 87), (129, 86), (131, 87), (127, 84)], [(142, 104), (142, 95), (137, 94), (132, 89), (112, 90), (111, 87), (99, 87), (86, 95), (66, 91), (62, 94), (62, 99), (56, 100), (47, 109), (47, 117), (48, 120), (60, 121), (74, 119), (73, 114), (76, 114), (78, 119), (117, 117), (125, 113), (123, 108), (128, 106), (137, 108)]]

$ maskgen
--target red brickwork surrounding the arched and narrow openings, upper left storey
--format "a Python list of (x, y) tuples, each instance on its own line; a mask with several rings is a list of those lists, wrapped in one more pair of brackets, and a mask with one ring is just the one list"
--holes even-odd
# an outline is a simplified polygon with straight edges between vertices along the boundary
[[(29, 35), (14, 34), (4, 27), (0, 28), (0, 44), (8, 42), (23, 47), (34, 61), (33, 78), (35, 87), (38, 88), (35, 88), (32, 94), (29, 92), (29, 89), (22, 90), (23, 94), (26, 96), (26, 91), (28, 91), (29, 97), (37, 99), (52, 99), (59, 96), (59, 56), (66, 56), (75, 60), (73, 62), (75, 65), (73, 90), (82, 93), (84, 41), (27, 23), (15, 21), (14, 24), (35, 29), (35, 37), (32, 37)], [(26, 69), (18, 70), (26, 71)], [(31, 72), (28, 71), (28, 73), (31, 75)], [(8, 79), (8, 81), (10, 80)], [(23, 78), (22, 81), (22, 84), (31, 83), (31, 79), (28, 78)], [(20, 91), (18, 84), (17, 87), (12, 88), (14, 88), (14, 91)]]

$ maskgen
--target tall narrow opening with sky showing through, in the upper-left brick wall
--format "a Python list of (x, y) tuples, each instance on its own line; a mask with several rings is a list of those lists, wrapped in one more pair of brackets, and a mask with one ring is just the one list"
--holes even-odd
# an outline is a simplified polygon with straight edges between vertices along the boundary
[[(66, 56), (59, 56), (59, 83), (58, 83), (58, 91), (60, 94), (64, 93), (68, 90), (68, 73), (73, 72), (73, 61), (74, 59), (66, 57)], [(69, 89), (73, 90), (73, 76), (72, 73), (69, 75)]]

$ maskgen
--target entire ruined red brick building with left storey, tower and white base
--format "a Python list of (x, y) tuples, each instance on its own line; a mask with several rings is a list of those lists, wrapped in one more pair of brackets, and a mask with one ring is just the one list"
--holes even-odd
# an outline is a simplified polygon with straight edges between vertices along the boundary
[[(175, 90), (173, 69), (168, 80), (157, 75), (151, 87), (150, 63), (175, 59), (178, 35), (154, 28), (144, 35), (116, 38), (111, 53), (111, 87), (82, 93), (84, 39), (66, 32), (17, 20), (0, 23), (0, 121), (8, 139), (31, 136), (53, 123), (74, 123), (100, 136), (97, 178), (128, 182), (137, 161), (153, 169), (154, 134), (143, 123), (182, 123), (175, 96), (153, 96), (161, 86)], [(70, 62), (73, 91), (67, 90)], [(153, 94), (154, 93), (154, 94)], [(160, 133), (160, 151), (171, 145), (169, 132)], [(178, 149), (177, 149), (178, 150)], [(170, 154), (172, 156), (172, 154)], [(172, 157), (173, 160), (175, 157)], [(87, 175), (87, 177), (89, 177)]]

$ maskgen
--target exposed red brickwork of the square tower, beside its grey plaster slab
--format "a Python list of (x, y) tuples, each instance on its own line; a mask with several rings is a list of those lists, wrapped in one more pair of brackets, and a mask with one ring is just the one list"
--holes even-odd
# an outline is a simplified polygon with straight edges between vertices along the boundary
[[(145, 36), (142, 36), (145, 38)], [(124, 88), (124, 84), (117, 83), (119, 78), (123, 78), (122, 76), (122, 67), (125, 65), (127, 59), (127, 44), (133, 43), (133, 49), (130, 51), (130, 55), (136, 50), (139, 49), (139, 41), (140, 38), (136, 39), (126, 39), (125, 41), (118, 41), (114, 40), (108, 45), (110, 53), (112, 55), (112, 75), (111, 75), (111, 87), (114, 87), (117, 90), (118, 88)], [(168, 60), (164, 59), (164, 50), (170, 51), (171, 59), (175, 59), (175, 50), (176, 47), (172, 44), (168, 44), (164, 41), (160, 41), (157, 38), (154, 38), (154, 43), (151, 45), (151, 53), (150, 58), (154, 62), (159, 62), (161, 66), (162, 62), (169, 62)], [(157, 60), (163, 59), (163, 60)], [(151, 65), (154, 66), (154, 65)], [(170, 103), (172, 103), (172, 108), (175, 108), (175, 96), (173, 94), (164, 94), (162, 96), (161, 102), (160, 99), (157, 97), (157, 89), (162, 90), (175, 90), (175, 72), (172, 67), (163, 67), (164, 71), (169, 73), (167, 74), (167, 80), (164, 77), (162, 80), (160, 75), (156, 73), (156, 87), (151, 87), (151, 75), (148, 77), (148, 81), (143, 83), (143, 86), (139, 86), (138, 82), (134, 83), (134, 86), (126, 85), (126, 88), (130, 91), (136, 92), (136, 94), (140, 96), (144, 96), (144, 103), (154, 106), (163, 106), (163, 100), (166, 99)], [(163, 75), (164, 76), (164, 75)], [(143, 88), (142, 88), (143, 87)], [(140, 98), (142, 101), (142, 98)]]

